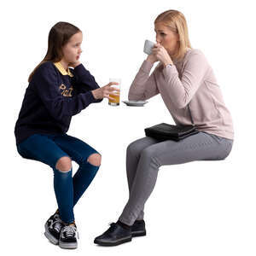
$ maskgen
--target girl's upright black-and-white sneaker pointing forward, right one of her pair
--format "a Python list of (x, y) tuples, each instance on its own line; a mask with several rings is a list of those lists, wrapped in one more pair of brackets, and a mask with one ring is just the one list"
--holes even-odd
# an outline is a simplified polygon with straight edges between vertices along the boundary
[(61, 230), (59, 247), (64, 249), (75, 249), (78, 247), (79, 232), (76, 224), (65, 224)]

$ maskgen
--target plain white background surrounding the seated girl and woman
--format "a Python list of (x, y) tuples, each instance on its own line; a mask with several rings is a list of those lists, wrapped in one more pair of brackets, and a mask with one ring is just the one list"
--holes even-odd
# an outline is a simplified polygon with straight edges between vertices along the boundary
[[(212, 65), (234, 122), (235, 142), (223, 161), (160, 167), (145, 208), (148, 235), (119, 247), (93, 240), (116, 221), (128, 199), (125, 148), (143, 129), (174, 123), (160, 96), (143, 108), (102, 103), (73, 117), (69, 135), (102, 154), (102, 166), (74, 208), (79, 248), (65, 251), (44, 237), (56, 209), (53, 172), (21, 158), (15, 122), (27, 78), (44, 58), (49, 30), (58, 21), (83, 34), (81, 61), (98, 84), (122, 79), (121, 100), (154, 40), (154, 19), (183, 12), (193, 48)], [(4, 1), (1, 6), (1, 250), (4, 255), (255, 255), (255, 9), (253, 1)], [(77, 164), (73, 163), (74, 172)]]

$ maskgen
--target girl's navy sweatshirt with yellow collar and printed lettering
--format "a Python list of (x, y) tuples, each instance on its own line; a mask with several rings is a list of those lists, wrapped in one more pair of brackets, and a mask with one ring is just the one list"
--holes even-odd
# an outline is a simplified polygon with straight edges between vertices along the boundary
[(16, 144), (34, 133), (64, 134), (72, 116), (96, 100), (91, 90), (100, 88), (83, 64), (68, 72), (61, 62), (44, 62), (26, 88), (15, 124)]

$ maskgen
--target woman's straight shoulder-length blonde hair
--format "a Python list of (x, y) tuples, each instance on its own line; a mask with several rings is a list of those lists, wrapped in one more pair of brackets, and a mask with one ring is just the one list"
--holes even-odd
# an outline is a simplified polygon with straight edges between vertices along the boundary
[(172, 55), (172, 59), (177, 61), (183, 59), (187, 48), (192, 48), (189, 42), (188, 26), (184, 15), (177, 10), (170, 9), (156, 17), (154, 24), (159, 22), (179, 36), (177, 52)]

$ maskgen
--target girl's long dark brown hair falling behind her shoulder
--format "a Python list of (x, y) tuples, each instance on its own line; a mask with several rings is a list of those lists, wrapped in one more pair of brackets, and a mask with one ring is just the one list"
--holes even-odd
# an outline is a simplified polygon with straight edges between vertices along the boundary
[(29, 75), (28, 82), (32, 80), (32, 76), (37, 68), (42, 65), (45, 61), (61, 61), (63, 58), (62, 47), (67, 44), (69, 38), (71, 38), (77, 32), (81, 32), (77, 26), (74, 26), (68, 22), (60, 21), (53, 26), (49, 31), (48, 36), (48, 49), (47, 53), (37, 67), (34, 68), (32, 73)]

